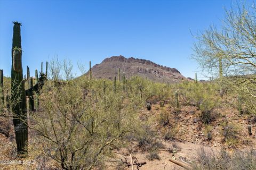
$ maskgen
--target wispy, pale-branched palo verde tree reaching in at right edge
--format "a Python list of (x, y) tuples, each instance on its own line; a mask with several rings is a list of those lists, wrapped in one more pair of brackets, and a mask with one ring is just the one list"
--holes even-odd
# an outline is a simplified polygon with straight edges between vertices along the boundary
[[(211, 26), (197, 35), (194, 58), (206, 74), (219, 73), (221, 86), (246, 96), (256, 112), (256, 7), (238, 4), (226, 10), (220, 28)], [(223, 76), (223, 77), (222, 77)]]

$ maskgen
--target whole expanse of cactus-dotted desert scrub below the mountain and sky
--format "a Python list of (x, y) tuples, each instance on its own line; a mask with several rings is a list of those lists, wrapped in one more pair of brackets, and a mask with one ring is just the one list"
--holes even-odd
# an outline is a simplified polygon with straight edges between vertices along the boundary
[(27, 66), (24, 76), (21, 23), (13, 22), (11, 78), (0, 70), (0, 158), (33, 164), (0, 168), (150, 169), (163, 161), (159, 169), (171, 162), (255, 169), (254, 20), (255, 8), (242, 6), (227, 11), (220, 30), (197, 35), (193, 58), (211, 79), (195, 74), (179, 83), (129, 77), (120, 68), (111, 79), (96, 79), (91, 61), (75, 77), (73, 64), (58, 58), (45, 70), (41, 63), (39, 76), (35, 70), (31, 77)]

